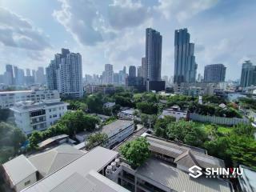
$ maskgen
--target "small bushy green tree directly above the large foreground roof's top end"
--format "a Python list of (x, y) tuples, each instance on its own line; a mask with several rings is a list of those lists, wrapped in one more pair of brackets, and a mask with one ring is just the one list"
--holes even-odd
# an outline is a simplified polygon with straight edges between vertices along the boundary
[(90, 150), (95, 146), (104, 146), (106, 144), (107, 138), (108, 138), (107, 134), (102, 134), (102, 133), (90, 134), (87, 140), (86, 147)]

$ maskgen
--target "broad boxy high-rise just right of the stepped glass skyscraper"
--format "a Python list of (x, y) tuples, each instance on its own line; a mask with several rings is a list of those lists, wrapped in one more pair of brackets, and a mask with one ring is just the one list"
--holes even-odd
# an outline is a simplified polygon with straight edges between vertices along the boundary
[(225, 82), (226, 66), (212, 64), (205, 66), (204, 82)]

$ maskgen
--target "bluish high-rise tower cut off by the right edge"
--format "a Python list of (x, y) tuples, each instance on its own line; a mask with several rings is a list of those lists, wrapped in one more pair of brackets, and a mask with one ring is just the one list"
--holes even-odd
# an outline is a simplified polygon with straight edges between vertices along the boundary
[(250, 61), (242, 63), (240, 86), (256, 86), (256, 66)]

